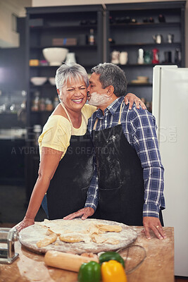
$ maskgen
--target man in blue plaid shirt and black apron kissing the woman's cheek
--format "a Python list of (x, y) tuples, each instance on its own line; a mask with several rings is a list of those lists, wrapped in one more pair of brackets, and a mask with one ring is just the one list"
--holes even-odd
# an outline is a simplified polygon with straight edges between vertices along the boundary
[[(95, 215), (127, 225), (143, 224), (146, 238), (151, 229), (163, 239), (163, 165), (155, 118), (135, 106), (130, 110), (124, 102), (126, 90), (127, 79), (118, 66), (101, 63), (92, 68), (89, 104), (99, 107), (88, 123), (99, 176)], [(67, 218), (80, 214), (83, 219), (90, 215), (84, 208)]]

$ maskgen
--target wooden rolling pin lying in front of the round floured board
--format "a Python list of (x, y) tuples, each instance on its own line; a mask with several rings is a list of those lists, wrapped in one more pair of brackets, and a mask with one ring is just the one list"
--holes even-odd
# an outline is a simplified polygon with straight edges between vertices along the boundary
[(83, 257), (80, 255), (68, 254), (66, 252), (48, 251), (44, 256), (44, 262), (48, 266), (57, 267), (78, 272), (84, 262), (99, 262), (96, 257)]

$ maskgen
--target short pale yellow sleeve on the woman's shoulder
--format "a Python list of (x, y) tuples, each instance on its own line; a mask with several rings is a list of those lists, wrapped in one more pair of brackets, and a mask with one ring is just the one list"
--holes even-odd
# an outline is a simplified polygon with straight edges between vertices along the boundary
[(39, 136), (39, 147), (50, 147), (65, 154), (70, 145), (71, 125), (62, 116), (51, 116)]

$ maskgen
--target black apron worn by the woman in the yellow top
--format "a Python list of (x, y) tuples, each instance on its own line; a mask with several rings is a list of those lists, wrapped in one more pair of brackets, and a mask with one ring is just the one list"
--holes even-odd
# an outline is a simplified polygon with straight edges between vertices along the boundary
[(49, 219), (62, 219), (82, 209), (93, 175), (94, 147), (89, 132), (83, 136), (72, 135), (47, 190)]

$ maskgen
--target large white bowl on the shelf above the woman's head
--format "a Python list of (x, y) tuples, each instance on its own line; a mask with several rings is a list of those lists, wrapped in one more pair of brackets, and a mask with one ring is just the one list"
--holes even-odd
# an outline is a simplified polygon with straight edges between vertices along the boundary
[(56, 47), (44, 48), (42, 49), (42, 53), (50, 66), (61, 66), (61, 63), (68, 54), (68, 49)]

